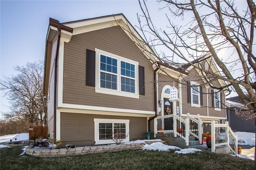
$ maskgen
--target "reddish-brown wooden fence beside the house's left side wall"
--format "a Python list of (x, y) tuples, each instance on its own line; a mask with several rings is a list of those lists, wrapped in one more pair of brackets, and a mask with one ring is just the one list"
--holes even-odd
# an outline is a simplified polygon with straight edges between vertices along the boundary
[(46, 127), (29, 127), (29, 140), (35, 140), (36, 138), (48, 138), (47, 126)]

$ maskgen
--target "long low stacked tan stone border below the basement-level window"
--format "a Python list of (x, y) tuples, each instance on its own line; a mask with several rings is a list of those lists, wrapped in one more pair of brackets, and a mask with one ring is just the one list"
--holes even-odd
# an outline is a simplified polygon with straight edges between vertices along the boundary
[[(146, 144), (151, 144), (154, 142), (161, 142), (168, 144), (167, 141), (149, 141)], [(33, 145), (26, 148), (26, 154), (31, 156), (36, 156), (40, 158), (57, 158), (65, 156), (78, 156), (85, 154), (97, 154), (103, 152), (119, 152), (122, 150), (133, 150), (142, 148), (145, 143), (133, 143), (133, 144), (117, 144), (114, 146), (85, 146), (77, 148), (61, 148), (61, 149), (34, 149)]]

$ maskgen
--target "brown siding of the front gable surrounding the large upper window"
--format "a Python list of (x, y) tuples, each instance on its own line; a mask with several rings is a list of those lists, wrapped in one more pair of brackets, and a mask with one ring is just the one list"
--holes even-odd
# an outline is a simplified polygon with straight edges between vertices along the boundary
[[(138, 61), (145, 67), (145, 96), (139, 99), (95, 93), (86, 86), (86, 49), (95, 48)], [(72, 36), (64, 44), (63, 103), (154, 111), (152, 64), (119, 26)]]

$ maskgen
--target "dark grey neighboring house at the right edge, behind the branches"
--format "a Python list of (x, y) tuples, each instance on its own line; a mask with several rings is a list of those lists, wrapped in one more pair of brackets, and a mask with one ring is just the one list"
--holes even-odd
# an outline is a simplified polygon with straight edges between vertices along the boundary
[(229, 126), (232, 128), (233, 131), (240, 131), (240, 132), (253, 132), (255, 133), (255, 118), (248, 119), (246, 116), (237, 115), (237, 112), (240, 111), (244, 105), (238, 103), (240, 98), (230, 97), (227, 99), (226, 103), (227, 106), (227, 121), (229, 122)]

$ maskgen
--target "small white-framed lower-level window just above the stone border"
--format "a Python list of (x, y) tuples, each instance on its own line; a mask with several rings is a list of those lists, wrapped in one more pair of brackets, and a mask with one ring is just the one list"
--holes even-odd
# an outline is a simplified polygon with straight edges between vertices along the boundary
[(113, 138), (129, 142), (129, 123), (123, 119), (94, 119), (95, 144), (115, 143)]

